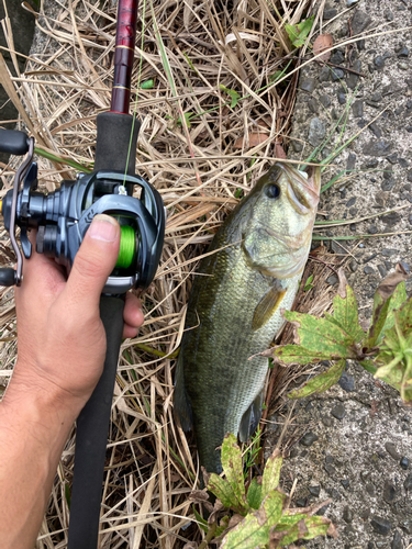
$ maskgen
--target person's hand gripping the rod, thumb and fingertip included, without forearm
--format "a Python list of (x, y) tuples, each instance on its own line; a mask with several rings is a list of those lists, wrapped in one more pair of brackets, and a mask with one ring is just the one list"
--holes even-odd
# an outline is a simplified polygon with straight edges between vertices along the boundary
[[(78, 412), (86, 404), (103, 369), (107, 343), (99, 301), (119, 245), (118, 222), (97, 215), (67, 280), (41, 254), (34, 251), (24, 262), (23, 283), (15, 289), (19, 340), (11, 385), (55, 392)], [(123, 336), (134, 337), (144, 318), (133, 294), (126, 296), (123, 317)]]

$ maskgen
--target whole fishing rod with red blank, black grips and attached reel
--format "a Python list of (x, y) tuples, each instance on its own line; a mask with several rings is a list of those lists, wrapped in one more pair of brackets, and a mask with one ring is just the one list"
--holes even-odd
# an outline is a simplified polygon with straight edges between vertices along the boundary
[[(1, 204), (4, 226), (18, 258), (16, 269), (0, 269), (0, 285), (22, 283), (23, 255), (31, 257), (27, 229), (37, 229), (36, 251), (53, 257), (70, 271), (74, 258), (94, 215), (114, 216), (121, 226), (118, 262), (100, 299), (107, 335), (103, 373), (77, 419), (68, 549), (96, 549), (103, 470), (114, 380), (123, 332), (125, 293), (146, 289), (160, 259), (165, 209), (154, 187), (135, 173), (140, 122), (129, 113), (137, 22), (137, 0), (119, 0), (114, 78), (109, 112), (97, 116), (96, 160), (92, 173), (63, 180), (60, 188), (37, 192), (34, 139), (24, 132), (1, 130), (0, 150), (26, 155), (13, 189)], [(134, 188), (141, 191), (133, 197)], [(20, 227), (21, 248), (15, 229)], [(23, 254), (22, 254), (23, 251)]]

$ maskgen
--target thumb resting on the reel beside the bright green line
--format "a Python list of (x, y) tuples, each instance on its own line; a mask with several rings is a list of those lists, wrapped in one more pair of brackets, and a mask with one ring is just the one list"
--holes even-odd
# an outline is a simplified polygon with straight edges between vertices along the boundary
[(65, 293), (83, 309), (99, 305), (100, 294), (119, 256), (120, 225), (110, 215), (96, 215), (76, 254)]

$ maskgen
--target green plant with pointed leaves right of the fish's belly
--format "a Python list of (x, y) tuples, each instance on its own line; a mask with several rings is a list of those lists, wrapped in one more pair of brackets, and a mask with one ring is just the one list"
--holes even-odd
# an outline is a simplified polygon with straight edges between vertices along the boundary
[(412, 403), (412, 298), (408, 300), (401, 266), (379, 284), (372, 318), (367, 332), (358, 321), (354, 291), (339, 270), (339, 289), (333, 300), (333, 314), (323, 318), (285, 311), (296, 328), (294, 345), (278, 345), (265, 355), (275, 362), (316, 363), (331, 360), (325, 372), (291, 391), (290, 399), (322, 393), (336, 383), (346, 359), (357, 360), (375, 378), (396, 388), (405, 403)]

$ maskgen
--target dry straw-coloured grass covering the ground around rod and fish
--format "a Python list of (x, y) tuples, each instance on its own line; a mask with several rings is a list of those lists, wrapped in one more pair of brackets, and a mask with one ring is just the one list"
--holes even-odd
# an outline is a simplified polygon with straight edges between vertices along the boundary
[[(234, 8), (219, 0), (153, 0), (153, 5), (140, 7), (140, 33), (145, 13), (144, 43), (142, 47), (138, 35), (134, 96), (138, 82), (154, 79), (155, 83), (151, 90), (138, 89), (137, 115), (143, 122), (137, 171), (162, 193), (168, 223), (160, 268), (143, 296), (146, 322), (138, 337), (122, 347), (101, 547), (171, 549), (201, 539), (189, 502), (198, 461), (192, 438), (172, 419), (170, 357), (179, 347), (192, 273), (205, 245), (240, 195), (272, 164), (279, 145), (287, 146), (298, 71), (279, 86), (271, 77), (292, 58), (283, 23), (299, 22), (315, 3), (241, 0)], [(25, 74), (10, 80), (2, 68), (2, 83), (20, 102), (21, 120), (37, 145), (83, 165), (93, 160), (96, 114), (110, 103), (114, 4), (113, 0), (56, 0), (47, 15), (42, 7), (37, 25), (43, 38)], [(294, 55), (288, 70), (299, 63)], [(233, 109), (221, 85), (238, 92)], [(196, 116), (188, 124), (185, 114)], [(48, 191), (62, 177), (75, 175), (63, 164), (43, 158), (38, 164), (40, 186)], [(2, 193), (11, 186), (14, 167), (14, 160), (3, 166)], [(1, 262), (10, 262), (4, 231), (0, 246)], [(312, 311), (324, 311), (331, 303), (331, 294), (322, 290), (330, 272), (323, 265), (320, 270), (321, 301), (308, 304)], [(0, 379), (5, 385), (16, 351), (10, 289), (1, 293), (0, 324)], [(278, 394), (290, 379), (283, 379)], [(38, 548), (66, 547), (66, 488), (71, 482), (74, 449), (75, 433), (58, 468)]]

